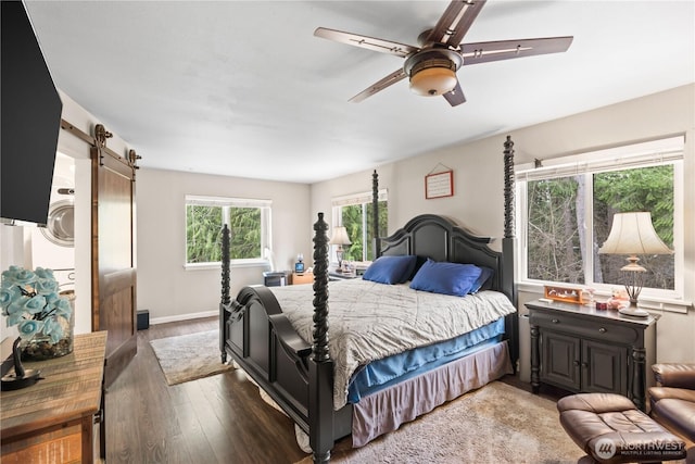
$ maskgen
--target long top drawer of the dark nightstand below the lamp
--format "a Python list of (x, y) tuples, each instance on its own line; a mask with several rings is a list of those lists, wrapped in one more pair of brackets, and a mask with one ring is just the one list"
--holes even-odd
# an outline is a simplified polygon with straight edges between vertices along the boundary
[(530, 322), (539, 327), (547, 327), (553, 331), (561, 331), (578, 337), (590, 337), (614, 343), (633, 343), (640, 331), (626, 324), (608, 319), (592, 321), (587, 317), (574, 317), (571, 314), (532, 310)]

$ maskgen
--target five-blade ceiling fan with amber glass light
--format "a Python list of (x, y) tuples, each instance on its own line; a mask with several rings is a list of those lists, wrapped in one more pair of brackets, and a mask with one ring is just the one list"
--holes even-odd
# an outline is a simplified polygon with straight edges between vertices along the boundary
[(571, 36), (462, 43), (484, 4), (485, 0), (453, 0), (434, 28), (419, 35), (419, 47), (325, 27), (318, 27), (314, 35), (405, 59), (403, 68), (389, 74), (350, 101), (359, 102), (407, 76), (413, 91), (422, 96), (443, 95), (452, 106), (466, 101), (456, 78), (456, 72), (460, 66), (559, 53), (567, 51), (572, 43)]

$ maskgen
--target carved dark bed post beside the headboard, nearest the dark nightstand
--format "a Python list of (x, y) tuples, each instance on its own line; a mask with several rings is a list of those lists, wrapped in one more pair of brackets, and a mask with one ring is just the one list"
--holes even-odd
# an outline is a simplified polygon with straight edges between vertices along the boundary
[[(504, 275), (502, 276), (502, 288), (509, 297), (511, 303), (517, 305), (517, 289), (515, 284), (515, 178), (514, 178), (514, 141), (511, 136), (507, 136), (504, 142), (504, 238), (502, 239), (502, 259), (504, 260)], [(515, 366), (519, 358), (519, 322), (517, 317), (507, 317), (506, 331), (509, 334), (509, 354), (511, 365)], [(510, 325), (510, 327), (509, 327)]]

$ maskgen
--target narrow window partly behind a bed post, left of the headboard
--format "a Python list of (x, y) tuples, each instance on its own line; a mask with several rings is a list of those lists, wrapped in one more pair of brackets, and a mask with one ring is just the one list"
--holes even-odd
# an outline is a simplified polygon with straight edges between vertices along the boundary
[[(372, 261), (374, 209), (371, 192), (333, 199), (333, 224), (344, 226), (352, 244), (343, 247), (345, 261)], [(389, 229), (389, 202), (387, 190), (379, 190), (379, 233), (386, 237)]]

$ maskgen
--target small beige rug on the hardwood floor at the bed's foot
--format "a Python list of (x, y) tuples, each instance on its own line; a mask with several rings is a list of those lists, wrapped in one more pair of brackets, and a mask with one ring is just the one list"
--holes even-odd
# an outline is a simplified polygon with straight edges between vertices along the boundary
[(229, 371), (229, 364), (219, 359), (219, 331), (208, 330), (197, 334), (151, 340), (166, 383), (182, 384)]

